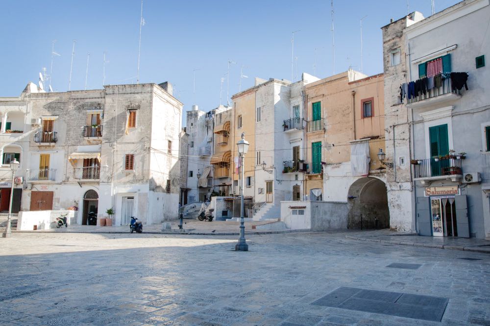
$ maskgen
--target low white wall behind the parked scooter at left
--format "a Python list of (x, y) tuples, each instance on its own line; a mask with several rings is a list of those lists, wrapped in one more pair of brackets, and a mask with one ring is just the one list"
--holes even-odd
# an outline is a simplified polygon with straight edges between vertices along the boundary
[(37, 230), (56, 229), (56, 218), (61, 214), (67, 215), (67, 224), (76, 224), (76, 215), (78, 211), (75, 210), (33, 210), (33, 211), (20, 211), (17, 230), (34, 230), (34, 226)]

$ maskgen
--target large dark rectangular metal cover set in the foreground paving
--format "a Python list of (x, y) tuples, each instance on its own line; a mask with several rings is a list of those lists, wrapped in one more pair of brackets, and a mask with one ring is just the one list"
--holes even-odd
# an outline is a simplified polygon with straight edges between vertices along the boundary
[(311, 304), (440, 322), (447, 301), (441, 297), (339, 287)]

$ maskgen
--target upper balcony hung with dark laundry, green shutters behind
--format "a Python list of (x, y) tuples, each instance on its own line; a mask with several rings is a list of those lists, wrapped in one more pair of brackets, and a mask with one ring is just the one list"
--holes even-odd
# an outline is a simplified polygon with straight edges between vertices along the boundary
[(451, 102), (461, 97), (463, 89), (468, 90), (467, 72), (451, 70), (451, 56), (420, 63), (419, 78), (400, 85), (400, 102), (406, 99), (411, 109), (431, 106), (442, 102)]

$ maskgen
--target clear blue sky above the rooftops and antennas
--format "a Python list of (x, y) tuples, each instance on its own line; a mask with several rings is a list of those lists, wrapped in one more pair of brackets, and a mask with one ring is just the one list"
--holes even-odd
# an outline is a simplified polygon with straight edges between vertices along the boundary
[[(436, 12), (458, 0), (436, 0)], [(83, 90), (90, 52), (87, 89), (102, 87), (103, 52), (106, 84), (136, 82), (140, 0), (121, 1), (7, 1), (0, 2), (0, 96), (17, 96), (29, 81), (37, 82), (43, 67), (50, 70), (51, 42), (61, 54), (54, 60), (52, 86), (68, 90), (72, 42), (76, 39), (71, 90)], [(409, 0), (410, 11), (431, 14), (430, 0)], [(380, 27), (390, 18), (407, 14), (407, 0), (334, 0), (335, 72), (352, 66), (360, 70), (360, 22), (363, 17), (363, 70), (382, 72)], [(170, 81), (186, 110), (198, 104), (203, 111), (220, 102), (227, 61), (231, 65), (229, 93), (238, 92), (240, 67), (249, 78), (291, 79), (291, 32), (297, 76), (331, 75), (332, 34), (330, 1), (160, 1), (144, 0), (140, 82)], [(294, 70), (296, 71), (296, 64)], [(193, 93), (193, 70), (196, 92)], [(294, 73), (295, 75), (296, 73)]]

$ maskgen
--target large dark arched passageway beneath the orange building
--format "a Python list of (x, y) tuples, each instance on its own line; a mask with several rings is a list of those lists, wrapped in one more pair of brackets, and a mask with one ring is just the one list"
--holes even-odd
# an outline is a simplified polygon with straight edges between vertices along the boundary
[(390, 210), (386, 185), (376, 178), (356, 180), (349, 188), (347, 225), (349, 229), (386, 229)]

